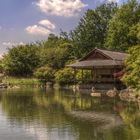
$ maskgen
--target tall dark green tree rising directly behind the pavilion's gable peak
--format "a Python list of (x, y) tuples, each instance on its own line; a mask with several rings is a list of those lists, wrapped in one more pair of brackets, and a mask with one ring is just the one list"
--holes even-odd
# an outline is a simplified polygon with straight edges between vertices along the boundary
[(103, 48), (108, 22), (116, 12), (115, 3), (103, 4), (95, 10), (87, 10), (78, 26), (71, 32), (75, 56), (82, 57), (93, 48)]

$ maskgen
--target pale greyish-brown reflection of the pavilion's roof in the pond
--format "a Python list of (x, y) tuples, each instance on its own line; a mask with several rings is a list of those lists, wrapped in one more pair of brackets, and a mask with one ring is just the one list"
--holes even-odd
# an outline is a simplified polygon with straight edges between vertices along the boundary
[(122, 118), (117, 114), (95, 111), (72, 111), (69, 112), (69, 115), (92, 122), (94, 125), (97, 125), (97, 128), (109, 129), (124, 125)]

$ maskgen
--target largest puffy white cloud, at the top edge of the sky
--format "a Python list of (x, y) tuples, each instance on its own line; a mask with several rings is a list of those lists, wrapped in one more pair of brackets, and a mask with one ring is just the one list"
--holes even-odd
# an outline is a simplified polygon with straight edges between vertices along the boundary
[(81, 0), (38, 0), (36, 5), (46, 14), (72, 17), (87, 6)]

